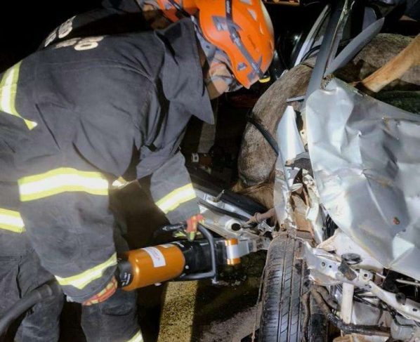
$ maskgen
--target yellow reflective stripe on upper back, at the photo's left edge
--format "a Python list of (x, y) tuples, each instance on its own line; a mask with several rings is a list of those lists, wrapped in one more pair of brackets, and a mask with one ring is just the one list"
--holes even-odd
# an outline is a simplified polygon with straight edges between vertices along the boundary
[(16, 91), (18, 88), (18, 78), (19, 78), (19, 70), (20, 64), (13, 65), (10, 69), (6, 70), (3, 75), (3, 78), (0, 82), (0, 110), (2, 112), (6, 112), (8, 114), (14, 115), (15, 117), (19, 117), (23, 121), (28, 129), (33, 129), (37, 126), (37, 123), (34, 121), (29, 121), (24, 119), (20, 116), (18, 111), (16, 110)]

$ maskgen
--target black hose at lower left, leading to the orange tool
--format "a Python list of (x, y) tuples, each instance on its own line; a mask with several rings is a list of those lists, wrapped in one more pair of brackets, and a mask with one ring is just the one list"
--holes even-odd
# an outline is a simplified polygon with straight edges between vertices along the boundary
[(61, 293), (61, 288), (58, 282), (51, 281), (33, 291), (30, 291), (29, 294), (22, 297), (20, 301), (15, 303), (9, 310), (6, 315), (0, 318), (0, 336), (4, 334), (8, 326), (20, 315), (25, 313), (27, 310), (32, 308), (35, 304), (40, 301), (44, 301), (46, 298), (51, 296), (57, 296)]

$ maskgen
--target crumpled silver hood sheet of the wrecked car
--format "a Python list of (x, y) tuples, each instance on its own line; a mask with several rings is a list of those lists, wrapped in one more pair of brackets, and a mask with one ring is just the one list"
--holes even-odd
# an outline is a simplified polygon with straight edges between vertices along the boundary
[(420, 279), (420, 115), (333, 79), (306, 103), (322, 203), (385, 268)]

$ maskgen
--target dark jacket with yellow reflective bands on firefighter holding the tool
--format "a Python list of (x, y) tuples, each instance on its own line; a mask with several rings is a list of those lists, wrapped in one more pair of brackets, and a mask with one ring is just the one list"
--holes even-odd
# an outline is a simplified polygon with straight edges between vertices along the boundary
[[(178, 145), (192, 115), (211, 123), (213, 112), (190, 20), (48, 46), (7, 70), (0, 86), (0, 114), (25, 126), (13, 138), (25, 235), (73, 301), (91, 298), (114, 275), (108, 188), (133, 160), (171, 223), (199, 213)], [(140, 341), (135, 322), (111, 324), (101, 341)]]

